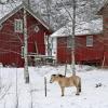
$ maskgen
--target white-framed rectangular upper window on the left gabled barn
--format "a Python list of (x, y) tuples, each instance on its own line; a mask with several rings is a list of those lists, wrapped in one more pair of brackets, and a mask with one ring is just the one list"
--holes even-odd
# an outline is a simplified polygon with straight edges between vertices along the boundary
[(23, 19), (15, 19), (14, 21), (14, 30), (15, 32), (23, 32)]

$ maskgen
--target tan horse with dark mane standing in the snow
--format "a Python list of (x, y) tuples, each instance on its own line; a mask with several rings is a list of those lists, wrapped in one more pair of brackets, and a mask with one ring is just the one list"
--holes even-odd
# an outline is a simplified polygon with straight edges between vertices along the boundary
[(63, 75), (52, 75), (50, 83), (53, 83), (54, 81), (58, 82), (62, 89), (62, 96), (64, 96), (65, 87), (69, 87), (69, 86), (77, 87), (76, 95), (79, 95), (79, 93), (81, 92), (81, 78), (78, 76), (65, 77)]

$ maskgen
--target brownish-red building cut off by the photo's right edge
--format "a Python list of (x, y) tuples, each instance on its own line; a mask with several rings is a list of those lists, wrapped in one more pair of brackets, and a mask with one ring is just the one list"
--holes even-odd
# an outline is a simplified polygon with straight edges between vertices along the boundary
[(104, 66), (108, 66), (108, 1), (105, 5), (98, 11), (98, 15), (103, 16), (103, 26), (104, 26)]

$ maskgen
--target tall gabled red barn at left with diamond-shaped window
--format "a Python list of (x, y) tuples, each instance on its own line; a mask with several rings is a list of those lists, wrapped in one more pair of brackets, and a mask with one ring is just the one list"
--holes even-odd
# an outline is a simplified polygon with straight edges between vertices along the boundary
[[(4, 13), (3, 17), (0, 16), (0, 63), (4, 66), (24, 66), (24, 58), (22, 58), (24, 9), (27, 12), (28, 53), (45, 55), (44, 37), (51, 33), (51, 29), (38, 12), (35, 13), (26, 4), (21, 3), (11, 12)], [(30, 64), (31, 60), (29, 58)]]

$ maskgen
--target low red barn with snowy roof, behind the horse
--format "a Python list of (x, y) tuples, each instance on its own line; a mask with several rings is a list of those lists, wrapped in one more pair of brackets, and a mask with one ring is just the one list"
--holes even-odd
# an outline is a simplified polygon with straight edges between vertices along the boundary
[[(76, 27), (76, 62), (81, 64), (102, 64), (103, 62), (103, 22), (102, 19), (82, 22)], [(51, 35), (53, 39), (52, 55), (57, 63), (71, 63), (71, 23)]]

